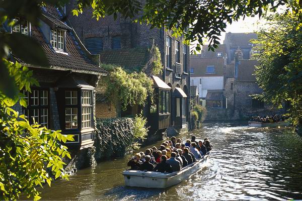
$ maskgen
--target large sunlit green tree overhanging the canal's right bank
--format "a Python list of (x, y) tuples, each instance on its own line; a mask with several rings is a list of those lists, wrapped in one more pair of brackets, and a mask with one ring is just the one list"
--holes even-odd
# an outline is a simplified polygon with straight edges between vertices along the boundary
[(291, 13), (266, 17), (266, 27), (253, 40), (259, 61), (257, 83), (263, 93), (256, 95), (267, 103), (281, 108), (288, 101), (288, 115), (294, 125), (302, 125), (302, 28), (297, 16)]

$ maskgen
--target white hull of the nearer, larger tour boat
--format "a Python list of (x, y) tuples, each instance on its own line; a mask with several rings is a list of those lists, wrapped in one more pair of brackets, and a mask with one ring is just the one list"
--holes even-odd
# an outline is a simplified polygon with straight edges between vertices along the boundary
[(125, 185), (144, 188), (167, 188), (189, 178), (206, 165), (211, 151), (180, 171), (172, 173), (150, 172), (140, 170), (123, 171)]

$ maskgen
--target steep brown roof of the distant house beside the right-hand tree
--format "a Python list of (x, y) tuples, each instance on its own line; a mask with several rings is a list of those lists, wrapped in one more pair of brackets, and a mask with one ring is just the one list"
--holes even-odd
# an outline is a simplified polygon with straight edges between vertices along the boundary
[(255, 66), (258, 65), (256, 60), (239, 60), (238, 81), (256, 82)]

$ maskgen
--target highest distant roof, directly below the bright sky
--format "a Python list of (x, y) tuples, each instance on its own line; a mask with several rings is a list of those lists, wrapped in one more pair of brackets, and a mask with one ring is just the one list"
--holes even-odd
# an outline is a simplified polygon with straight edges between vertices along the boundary
[(251, 39), (257, 39), (256, 33), (226, 33), (223, 44), (229, 44), (230, 48), (252, 48)]

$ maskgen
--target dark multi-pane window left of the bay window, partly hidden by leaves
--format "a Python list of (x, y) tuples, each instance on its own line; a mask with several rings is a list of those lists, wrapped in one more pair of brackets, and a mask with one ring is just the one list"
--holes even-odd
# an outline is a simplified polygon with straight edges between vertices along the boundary
[(23, 90), (27, 108), (22, 108), (23, 115), (30, 124), (40, 124), (48, 128), (48, 90), (33, 89), (31, 93)]

